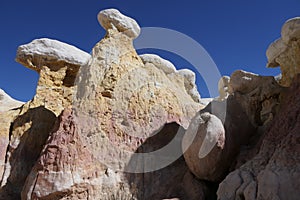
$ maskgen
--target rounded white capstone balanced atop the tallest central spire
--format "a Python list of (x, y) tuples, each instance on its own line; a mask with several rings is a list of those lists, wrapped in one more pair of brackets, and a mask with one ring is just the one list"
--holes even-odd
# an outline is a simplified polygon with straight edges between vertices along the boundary
[(98, 21), (106, 31), (109, 29), (117, 29), (132, 39), (137, 38), (141, 32), (140, 26), (134, 19), (123, 15), (117, 9), (100, 11)]

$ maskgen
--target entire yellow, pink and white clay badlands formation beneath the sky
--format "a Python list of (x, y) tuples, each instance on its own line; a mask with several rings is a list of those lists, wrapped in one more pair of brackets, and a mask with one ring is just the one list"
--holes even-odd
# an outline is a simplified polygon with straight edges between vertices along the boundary
[(300, 18), (267, 50), (280, 80), (235, 71), (208, 105), (194, 72), (136, 53), (135, 20), (98, 20), (91, 55), (51, 39), (18, 48), (39, 81), (25, 103), (0, 90), (0, 199), (299, 199)]

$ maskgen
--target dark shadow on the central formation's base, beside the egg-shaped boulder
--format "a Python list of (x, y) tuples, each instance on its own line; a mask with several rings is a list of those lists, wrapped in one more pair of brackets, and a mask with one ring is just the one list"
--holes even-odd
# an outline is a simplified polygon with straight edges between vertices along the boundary
[[(175, 141), (175, 151), (180, 151), (181, 156), (172, 162), (170, 165), (161, 169), (146, 172), (146, 173), (126, 173), (125, 176), (128, 183), (131, 186), (132, 194), (139, 200), (151, 200), (151, 199), (205, 199), (209, 194), (209, 191), (204, 182), (197, 180), (192, 173), (190, 173), (181, 150), (181, 142), (184, 136), (185, 130), (176, 123), (166, 124), (157, 134), (149, 137), (137, 150), (136, 153), (148, 153), (153, 152), (169, 144), (172, 140)], [(176, 136), (177, 134), (177, 136)], [(176, 138), (175, 138), (176, 136)], [(174, 141), (173, 141), (174, 142)], [(168, 156), (162, 153), (162, 157)], [(174, 152), (177, 154), (178, 152)], [(163, 155), (164, 154), (164, 155)], [(169, 155), (172, 157), (172, 155)], [(144, 158), (139, 160), (132, 158), (128, 163), (128, 167), (139, 165), (159, 165), (162, 159), (151, 159), (150, 163), (148, 159)], [(145, 167), (145, 166), (144, 166)], [(145, 167), (146, 168), (146, 167)], [(215, 199), (213, 195), (211, 199)]]

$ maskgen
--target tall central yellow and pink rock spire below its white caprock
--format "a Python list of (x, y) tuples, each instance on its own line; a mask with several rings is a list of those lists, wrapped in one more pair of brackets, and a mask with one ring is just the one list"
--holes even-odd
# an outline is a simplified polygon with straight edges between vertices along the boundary
[[(100, 22), (116, 23), (103, 13)], [(106, 37), (78, 72), (74, 111), (65, 110), (56, 122), (22, 198), (203, 199), (205, 186), (186, 178), (179, 131), (202, 106), (187, 93), (182, 75), (144, 64), (134, 37), (103, 26)], [(148, 155), (171, 141), (172, 151)], [(170, 160), (175, 163), (168, 166)], [(192, 182), (195, 192), (174, 180)]]

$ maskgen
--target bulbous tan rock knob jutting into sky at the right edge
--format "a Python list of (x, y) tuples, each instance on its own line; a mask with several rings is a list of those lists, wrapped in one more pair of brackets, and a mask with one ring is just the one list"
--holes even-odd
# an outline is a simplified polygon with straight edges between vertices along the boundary
[(294, 76), (300, 73), (300, 17), (285, 22), (281, 38), (270, 44), (266, 55), (268, 67), (280, 66), (280, 84), (289, 86)]

